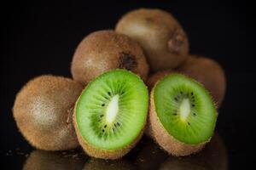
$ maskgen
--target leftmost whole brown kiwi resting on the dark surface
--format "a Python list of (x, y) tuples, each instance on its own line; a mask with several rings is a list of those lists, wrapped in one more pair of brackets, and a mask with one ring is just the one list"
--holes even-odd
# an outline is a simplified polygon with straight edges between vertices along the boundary
[(15, 99), (13, 115), (20, 133), (40, 150), (79, 146), (72, 116), (83, 86), (72, 79), (40, 76), (26, 83)]

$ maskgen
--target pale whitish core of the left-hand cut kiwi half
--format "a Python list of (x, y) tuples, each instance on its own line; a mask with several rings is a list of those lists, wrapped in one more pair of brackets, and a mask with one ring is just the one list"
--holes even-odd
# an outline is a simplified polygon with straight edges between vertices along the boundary
[(113, 96), (113, 98), (108, 103), (106, 112), (106, 122), (112, 124), (119, 112), (119, 94)]

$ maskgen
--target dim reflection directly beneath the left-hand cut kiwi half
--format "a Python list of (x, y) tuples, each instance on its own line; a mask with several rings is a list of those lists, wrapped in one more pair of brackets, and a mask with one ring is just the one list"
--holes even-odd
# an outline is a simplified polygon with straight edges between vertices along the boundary
[(83, 170), (135, 170), (136, 168), (125, 159), (107, 161), (91, 158), (84, 165)]

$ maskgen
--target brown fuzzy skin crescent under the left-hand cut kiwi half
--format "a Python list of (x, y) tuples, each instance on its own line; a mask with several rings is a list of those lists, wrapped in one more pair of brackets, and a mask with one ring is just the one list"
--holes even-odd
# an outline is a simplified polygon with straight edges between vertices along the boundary
[[(79, 132), (79, 127), (77, 124), (77, 119), (76, 119), (76, 109), (73, 114), (73, 122), (74, 122), (74, 127), (75, 131), (77, 133), (78, 139), (79, 139), (79, 144), (82, 146), (84, 149), (85, 153), (89, 156), (96, 157), (96, 158), (101, 158), (101, 159), (106, 159), (106, 160), (116, 160), (119, 159), (123, 156), (125, 156), (136, 144), (137, 142), (142, 138), (143, 132), (145, 129), (145, 125), (143, 127), (142, 132), (137, 136), (137, 139), (133, 141), (133, 143), (125, 146), (125, 148), (119, 149), (119, 150), (102, 150), (99, 148), (94, 147), (93, 145), (90, 145), (87, 143), (87, 141), (81, 136)], [(146, 122), (145, 122), (146, 124)]]

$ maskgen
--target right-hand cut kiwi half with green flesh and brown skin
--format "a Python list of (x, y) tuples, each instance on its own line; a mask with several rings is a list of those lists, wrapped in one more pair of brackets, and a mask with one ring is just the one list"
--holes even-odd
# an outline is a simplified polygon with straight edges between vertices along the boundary
[(173, 156), (187, 156), (201, 150), (212, 137), (217, 116), (211, 95), (189, 77), (168, 75), (151, 90), (151, 133)]

